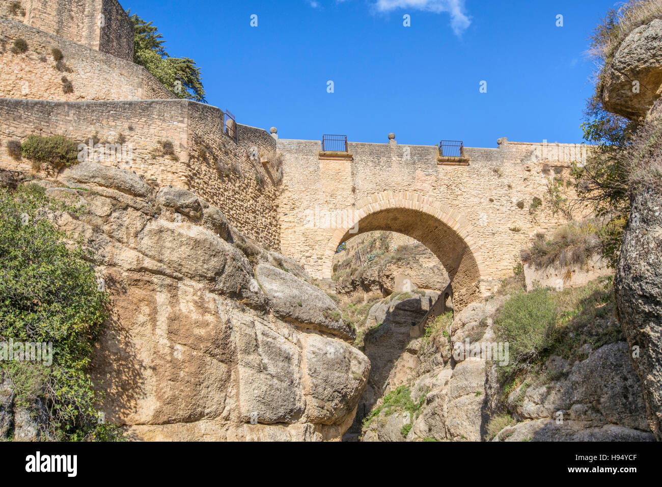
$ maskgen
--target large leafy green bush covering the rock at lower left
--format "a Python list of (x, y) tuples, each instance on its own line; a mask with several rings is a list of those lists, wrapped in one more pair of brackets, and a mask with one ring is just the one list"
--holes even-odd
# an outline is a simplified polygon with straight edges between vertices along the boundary
[(74, 209), (36, 184), (0, 189), (0, 345), (52, 343), (50, 359), (3, 357), (0, 376), (13, 383), (14, 407), (46, 414), (50, 437), (118, 439), (116, 427), (97, 424), (100, 397), (87, 372), (108, 298), (85, 252), (52, 223), (64, 211)]

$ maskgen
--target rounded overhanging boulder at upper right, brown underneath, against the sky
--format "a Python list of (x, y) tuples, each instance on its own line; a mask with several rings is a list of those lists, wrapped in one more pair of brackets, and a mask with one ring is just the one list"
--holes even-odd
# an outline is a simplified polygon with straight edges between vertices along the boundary
[(639, 119), (659, 98), (661, 87), (662, 20), (655, 19), (633, 30), (619, 46), (606, 68), (602, 100), (608, 111)]

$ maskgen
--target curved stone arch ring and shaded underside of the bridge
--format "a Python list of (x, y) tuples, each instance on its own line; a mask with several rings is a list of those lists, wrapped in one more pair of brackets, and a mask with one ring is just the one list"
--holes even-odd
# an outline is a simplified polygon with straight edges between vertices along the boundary
[(485, 266), (475, 230), (457, 210), (411, 191), (385, 191), (360, 199), (345, 211), (346, 227), (336, 229), (324, 249), (324, 278), (332, 276), (338, 245), (361, 233), (391, 231), (416, 239), (439, 258), (451, 280), (456, 309), (481, 298)]

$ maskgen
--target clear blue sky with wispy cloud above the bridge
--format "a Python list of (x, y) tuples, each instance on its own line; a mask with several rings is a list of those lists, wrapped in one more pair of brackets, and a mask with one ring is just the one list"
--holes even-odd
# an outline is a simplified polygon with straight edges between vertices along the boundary
[[(614, 0), (120, 0), (207, 101), (281, 138), (581, 142), (587, 38)], [(257, 15), (258, 27), (251, 27)], [(410, 27), (403, 16), (410, 15)], [(563, 27), (557, 27), (563, 15)], [(328, 81), (334, 93), (327, 92)], [(480, 93), (487, 81), (487, 93)]]

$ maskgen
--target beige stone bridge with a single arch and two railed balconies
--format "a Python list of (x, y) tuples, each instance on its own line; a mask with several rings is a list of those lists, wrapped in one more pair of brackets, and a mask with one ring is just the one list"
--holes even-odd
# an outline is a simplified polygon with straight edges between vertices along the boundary
[[(567, 220), (547, 188), (567, 188), (582, 144), (498, 140), (441, 157), (437, 146), (349, 142), (322, 152), (316, 140), (277, 140), (281, 251), (320, 280), (332, 278), (338, 245), (360, 233), (393, 231), (426, 245), (446, 267), (455, 305), (493, 292), (536, 233)], [(542, 201), (542, 205), (540, 202)]]

